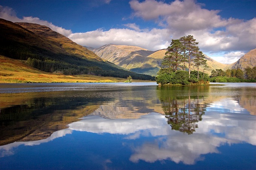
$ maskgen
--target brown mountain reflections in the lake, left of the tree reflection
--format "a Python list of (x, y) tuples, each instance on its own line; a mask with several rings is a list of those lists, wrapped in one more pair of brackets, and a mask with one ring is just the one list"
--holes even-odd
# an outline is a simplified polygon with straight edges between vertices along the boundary
[[(71, 88), (70, 84), (68, 87)], [(155, 86), (118, 86), (118, 89), (113, 86), (105, 88), (105, 85), (97, 87), (98, 90), (95, 90), (95, 86), (83, 87), (79, 84), (73, 89), (81, 90), (75, 91), (2, 93), (0, 145), (45, 139), (91, 113), (107, 119), (137, 119), (158, 107), (154, 99), (148, 100), (155, 94)]]

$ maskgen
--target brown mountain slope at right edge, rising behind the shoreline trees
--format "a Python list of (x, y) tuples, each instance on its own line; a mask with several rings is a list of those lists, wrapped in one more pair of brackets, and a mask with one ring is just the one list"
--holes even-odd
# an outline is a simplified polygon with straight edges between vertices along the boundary
[(244, 54), (237, 62), (228, 65), (225, 69), (245, 69), (256, 66), (256, 48)]

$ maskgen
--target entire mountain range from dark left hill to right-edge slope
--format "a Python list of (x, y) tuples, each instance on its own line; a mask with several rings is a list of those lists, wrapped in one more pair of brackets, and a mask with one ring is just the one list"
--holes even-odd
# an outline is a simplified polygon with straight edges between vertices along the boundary
[[(30, 65), (42, 71), (121, 78), (131, 75), (140, 80), (150, 80), (152, 77), (148, 75), (157, 74), (167, 51), (114, 44), (99, 48), (82, 47), (49, 27), (3, 19), (0, 19), (0, 43), (0, 55), (23, 63), (29, 58), (34, 59)], [(206, 55), (205, 59), (209, 66), (205, 70), (208, 74), (213, 69), (244, 69), (256, 66), (256, 49), (230, 65), (216, 62)]]

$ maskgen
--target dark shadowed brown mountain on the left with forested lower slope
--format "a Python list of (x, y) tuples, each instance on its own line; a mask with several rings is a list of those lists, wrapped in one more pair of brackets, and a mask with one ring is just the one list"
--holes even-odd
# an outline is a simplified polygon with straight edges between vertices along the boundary
[(0, 19), (0, 55), (23, 60), (45, 72), (66, 75), (91, 74), (150, 80), (102, 60), (92, 51), (76, 44), (49, 27), (32, 23), (12, 23)]

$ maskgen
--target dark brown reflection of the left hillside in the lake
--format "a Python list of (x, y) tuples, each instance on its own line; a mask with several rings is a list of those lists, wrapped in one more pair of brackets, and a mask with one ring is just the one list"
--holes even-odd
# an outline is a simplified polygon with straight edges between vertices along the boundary
[(93, 92), (1, 94), (0, 145), (50, 137), (111, 100), (106, 93), (99, 97)]

